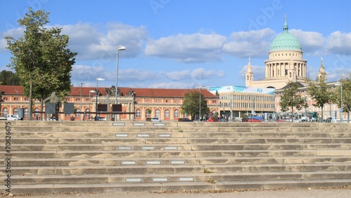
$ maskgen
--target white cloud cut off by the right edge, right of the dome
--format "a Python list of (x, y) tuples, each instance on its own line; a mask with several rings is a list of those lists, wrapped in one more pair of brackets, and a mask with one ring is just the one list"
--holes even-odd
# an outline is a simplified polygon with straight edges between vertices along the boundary
[(351, 55), (351, 32), (333, 32), (326, 40), (326, 50), (329, 53)]

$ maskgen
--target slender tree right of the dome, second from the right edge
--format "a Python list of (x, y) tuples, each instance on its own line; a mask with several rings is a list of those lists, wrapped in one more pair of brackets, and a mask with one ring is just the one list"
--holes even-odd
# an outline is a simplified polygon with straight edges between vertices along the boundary
[(317, 78), (316, 81), (307, 79), (309, 87), (307, 88), (308, 93), (314, 100), (314, 107), (320, 107), (322, 110), (322, 117), (319, 121), (322, 122), (323, 118), (323, 107), (326, 103), (331, 102), (331, 90), (326, 85), (326, 73), (322, 72), (321, 77)]

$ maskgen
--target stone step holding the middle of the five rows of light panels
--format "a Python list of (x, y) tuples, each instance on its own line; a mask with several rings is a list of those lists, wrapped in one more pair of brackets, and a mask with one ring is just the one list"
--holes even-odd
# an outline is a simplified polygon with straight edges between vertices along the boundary
[[(135, 152), (152, 151), (152, 150), (178, 150), (178, 151), (195, 151), (195, 150), (319, 150), (319, 149), (338, 149), (350, 150), (351, 143), (267, 143), (267, 144), (233, 144), (233, 143), (212, 143), (212, 144), (184, 144), (184, 143), (149, 143), (144, 145), (124, 144), (116, 145), (111, 143), (103, 144), (20, 144), (12, 145), (12, 151), (89, 151), (89, 150), (133, 150)], [(5, 145), (0, 146), (0, 150), (5, 150)]]

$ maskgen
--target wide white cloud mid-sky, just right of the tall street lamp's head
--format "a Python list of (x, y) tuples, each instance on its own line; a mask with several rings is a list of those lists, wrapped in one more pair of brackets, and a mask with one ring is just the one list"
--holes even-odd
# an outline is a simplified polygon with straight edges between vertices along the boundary
[(178, 62), (207, 62), (220, 60), (220, 49), (226, 38), (219, 34), (178, 34), (149, 41), (145, 54), (172, 58)]

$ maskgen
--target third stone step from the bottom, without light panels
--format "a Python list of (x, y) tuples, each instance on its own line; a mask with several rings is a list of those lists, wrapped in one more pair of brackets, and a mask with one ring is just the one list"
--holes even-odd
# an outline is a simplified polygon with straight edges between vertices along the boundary
[[(159, 173), (231, 173), (231, 172), (294, 172), (294, 171), (351, 171), (351, 163), (325, 164), (208, 164), (162, 166), (16, 166), (12, 176), (20, 175), (84, 175), (84, 174), (159, 174)], [(6, 175), (6, 170), (0, 170)]]

